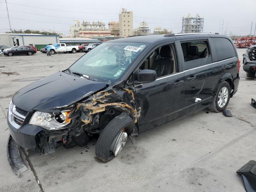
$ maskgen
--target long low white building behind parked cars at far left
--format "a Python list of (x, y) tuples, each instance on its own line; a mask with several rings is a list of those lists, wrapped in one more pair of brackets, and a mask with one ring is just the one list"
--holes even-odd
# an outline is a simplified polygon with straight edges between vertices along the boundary
[(33, 45), (38, 50), (49, 44), (59, 43), (58, 35), (24, 34), (24, 33), (0, 33), (0, 45), (22, 46)]

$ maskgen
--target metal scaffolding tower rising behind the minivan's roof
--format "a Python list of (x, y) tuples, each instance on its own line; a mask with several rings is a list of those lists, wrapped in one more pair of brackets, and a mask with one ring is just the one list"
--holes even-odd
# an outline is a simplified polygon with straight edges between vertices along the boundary
[(199, 14), (196, 17), (182, 17), (181, 33), (202, 33), (204, 28), (204, 18), (200, 18)]

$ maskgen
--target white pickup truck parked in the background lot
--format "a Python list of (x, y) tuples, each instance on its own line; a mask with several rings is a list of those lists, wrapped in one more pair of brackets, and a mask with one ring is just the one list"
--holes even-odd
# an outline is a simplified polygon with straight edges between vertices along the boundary
[(50, 52), (50, 54), (55, 54), (57, 52), (76, 53), (77, 51), (79, 51), (78, 46), (66, 45), (65, 43), (56, 43), (53, 45), (47, 45), (42, 52)]

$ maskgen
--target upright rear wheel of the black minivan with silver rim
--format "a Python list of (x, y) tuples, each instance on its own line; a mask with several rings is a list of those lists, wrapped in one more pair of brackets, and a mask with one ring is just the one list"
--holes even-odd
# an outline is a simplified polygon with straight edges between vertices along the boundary
[(228, 82), (223, 81), (220, 84), (214, 96), (212, 106), (208, 107), (208, 109), (216, 113), (222, 112), (228, 106), (230, 94), (231, 94), (230, 85), (228, 84)]

